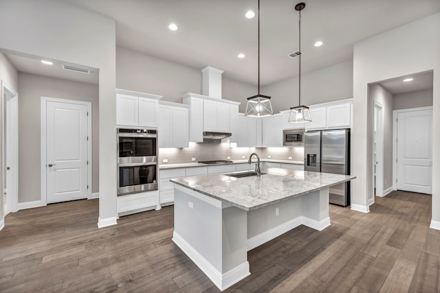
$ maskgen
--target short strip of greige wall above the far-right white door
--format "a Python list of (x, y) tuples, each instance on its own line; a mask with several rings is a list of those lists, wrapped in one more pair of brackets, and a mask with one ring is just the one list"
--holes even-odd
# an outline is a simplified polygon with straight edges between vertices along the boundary
[(432, 106), (432, 89), (393, 95), (393, 110)]

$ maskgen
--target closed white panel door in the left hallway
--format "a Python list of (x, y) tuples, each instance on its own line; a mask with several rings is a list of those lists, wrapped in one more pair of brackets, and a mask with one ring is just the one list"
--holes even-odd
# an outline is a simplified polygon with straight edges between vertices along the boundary
[(87, 105), (46, 103), (47, 203), (87, 198)]

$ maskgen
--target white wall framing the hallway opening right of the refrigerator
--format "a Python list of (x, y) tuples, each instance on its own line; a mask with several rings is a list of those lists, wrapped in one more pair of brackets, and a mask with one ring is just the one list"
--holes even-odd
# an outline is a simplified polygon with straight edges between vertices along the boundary
[[(373, 106), (368, 99), (368, 84), (433, 70), (432, 131), (440, 133), (439, 27), (440, 14), (433, 14), (354, 45), (352, 148), (356, 156), (353, 156), (351, 174), (357, 179), (353, 180), (351, 202), (355, 209), (369, 211), (367, 198), (373, 192)], [(432, 150), (432, 178), (440, 178), (440, 135), (433, 135)], [(440, 182), (432, 180), (432, 220), (437, 222), (440, 221), (439, 207)]]

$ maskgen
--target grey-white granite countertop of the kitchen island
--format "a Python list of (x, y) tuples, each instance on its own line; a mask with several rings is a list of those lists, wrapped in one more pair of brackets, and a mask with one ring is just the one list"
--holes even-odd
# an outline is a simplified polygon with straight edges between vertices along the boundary
[(212, 174), (175, 178), (170, 181), (250, 211), (356, 178), (351, 175), (280, 168), (261, 169), (261, 172), (267, 174), (243, 178)]

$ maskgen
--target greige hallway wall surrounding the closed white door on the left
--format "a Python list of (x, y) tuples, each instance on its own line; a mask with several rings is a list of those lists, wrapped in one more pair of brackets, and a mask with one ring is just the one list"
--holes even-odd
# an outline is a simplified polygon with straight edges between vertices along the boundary
[[(19, 73), (19, 202), (40, 200), (41, 97), (91, 102), (92, 192), (99, 191), (98, 86), (42, 75)], [(32, 148), (30, 148), (32, 145)]]

